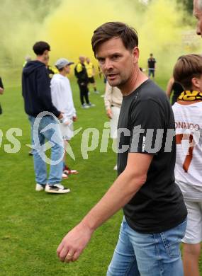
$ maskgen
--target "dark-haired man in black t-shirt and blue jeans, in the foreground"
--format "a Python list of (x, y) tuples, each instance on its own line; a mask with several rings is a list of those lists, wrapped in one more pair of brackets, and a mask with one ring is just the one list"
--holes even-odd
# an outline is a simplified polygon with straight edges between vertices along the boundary
[(123, 103), (118, 122), (118, 178), (57, 248), (77, 260), (94, 231), (120, 208), (123, 223), (107, 275), (183, 275), (179, 244), (186, 207), (174, 182), (176, 146), (169, 100), (138, 66), (138, 35), (124, 23), (104, 23), (91, 40), (96, 59)]

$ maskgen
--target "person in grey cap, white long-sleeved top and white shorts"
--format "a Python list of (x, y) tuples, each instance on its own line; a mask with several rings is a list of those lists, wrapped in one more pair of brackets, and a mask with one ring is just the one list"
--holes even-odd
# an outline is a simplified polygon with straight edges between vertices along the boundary
[[(52, 76), (50, 83), (52, 103), (55, 107), (60, 108), (63, 113), (61, 120), (62, 138), (64, 139), (65, 147), (74, 135), (73, 122), (77, 120), (76, 110), (72, 97), (72, 88), (70, 86), (67, 74), (70, 72), (70, 65), (74, 62), (69, 62), (68, 59), (58, 59), (55, 63), (59, 73)], [(64, 166), (62, 178), (68, 178), (68, 174), (77, 174), (78, 171), (71, 170), (65, 164), (66, 152), (64, 154)]]

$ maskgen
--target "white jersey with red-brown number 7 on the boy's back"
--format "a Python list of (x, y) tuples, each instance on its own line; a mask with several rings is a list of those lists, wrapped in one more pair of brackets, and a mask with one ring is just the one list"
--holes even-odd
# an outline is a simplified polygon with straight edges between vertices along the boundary
[(184, 198), (202, 200), (202, 101), (179, 101), (172, 109), (176, 127), (176, 183)]

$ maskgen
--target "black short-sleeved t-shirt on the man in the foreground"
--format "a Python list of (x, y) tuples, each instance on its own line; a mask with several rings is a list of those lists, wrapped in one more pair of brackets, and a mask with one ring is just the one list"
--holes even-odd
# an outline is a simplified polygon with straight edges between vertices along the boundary
[[(141, 127), (148, 132), (140, 133), (138, 137), (134, 127), (135, 130)], [(131, 228), (140, 233), (160, 233), (172, 229), (187, 215), (183, 196), (174, 182), (175, 137), (167, 139), (167, 130), (174, 132), (174, 115), (166, 94), (151, 80), (145, 81), (130, 95), (123, 96), (118, 132), (123, 128), (128, 130), (125, 134), (120, 133), (118, 175), (125, 170), (128, 152), (153, 154), (145, 184), (123, 207), (125, 219)], [(154, 137), (150, 150), (150, 139), (146, 134), (151, 129), (154, 130)], [(159, 149), (155, 144), (157, 130), (163, 132)], [(124, 148), (127, 150), (120, 153)], [(169, 152), (164, 152), (164, 149)]]

